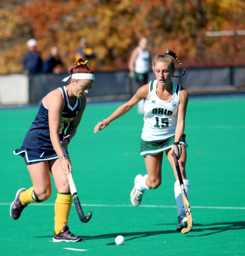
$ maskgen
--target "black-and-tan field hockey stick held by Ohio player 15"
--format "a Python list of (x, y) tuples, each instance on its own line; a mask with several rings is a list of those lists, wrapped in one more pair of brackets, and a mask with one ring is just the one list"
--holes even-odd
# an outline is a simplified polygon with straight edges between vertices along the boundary
[(191, 214), (191, 210), (190, 210), (190, 204), (187, 198), (187, 194), (185, 191), (185, 186), (183, 183), (183, 179), (181, 176), (181, 172), (179, 169), (179, 162), (178, 162), (178, 158), (177, 155), (175, 153), (173, 153), (173, 159), (174, 159), (174, 163), (175, 163), (175, 167), (177, 170), (177, 174), (179, 177), (179, 185), (181, 187), (181, 193), (182, 193), (182, 198), (183, 198), (183, 203), (184, 203), (184, 207), (185, 207), (185, 213), (186, 213), (186, 217), (187, 217), (187, 228), (182, 228), (181, 233), (185, 234), (190, 232), (190, 230), (192, 229), (193, 226), (193, 220), (192, 220), (192, 214)]

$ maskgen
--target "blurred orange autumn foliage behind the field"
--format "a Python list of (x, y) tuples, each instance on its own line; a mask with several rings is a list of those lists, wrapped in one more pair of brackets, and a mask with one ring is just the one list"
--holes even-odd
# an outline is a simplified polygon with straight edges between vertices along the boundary
[[(244, 65), (245, 36), (205, 37), (206, 31), (244, 30), (242, 0), (10, 0), (0, 9), (0, 73), (22, 72), (26, 41), (46, 59), (54, 45), (67, 67), (79, 39), (96, 54), (97, 70), (127, 69), (139, 37), (152, 55), (175, 51), (186, 67)], [(120, 63), (120, 65), (118, 65)]]

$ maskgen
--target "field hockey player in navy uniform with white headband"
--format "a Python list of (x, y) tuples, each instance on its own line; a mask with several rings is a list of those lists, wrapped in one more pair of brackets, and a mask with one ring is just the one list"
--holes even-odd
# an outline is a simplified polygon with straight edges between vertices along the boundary
[(41, 203), (51, 195), (50, 172), (58, 191), (55, 201), (55, 232), (53, 241), (81, 241), (81, 236), (72, 234), (67, 226), (72, 205), (66, 172), (72, 170), (68, 156), (68, 144), (74, 137), (86, 107), (84, 97), (94, 84), (94, 71), (87, 66), (84, 57), (70, 69), (67, 86), (47, 94), (39, 108), (30, 129), (27, 131), (21, 148), (14, 154), (24, 157), (33, 187), (19, 189), (11, 204), (10, 215), (14, 220), (30, 203)]

